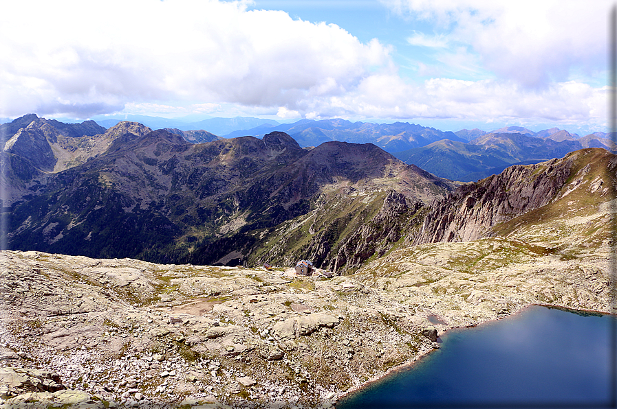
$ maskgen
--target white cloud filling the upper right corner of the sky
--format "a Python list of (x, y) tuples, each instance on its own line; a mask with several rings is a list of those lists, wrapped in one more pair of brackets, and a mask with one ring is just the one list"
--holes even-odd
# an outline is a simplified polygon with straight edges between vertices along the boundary
[[(569, 80), (573, 67), (607, 65), (609, 0), (382, 0), (466, 43), (486, 69), (523, 86)], [(439, 38), (439, 34), (436, 35)], [(421, 37), (418, 37), (419, 39)]]

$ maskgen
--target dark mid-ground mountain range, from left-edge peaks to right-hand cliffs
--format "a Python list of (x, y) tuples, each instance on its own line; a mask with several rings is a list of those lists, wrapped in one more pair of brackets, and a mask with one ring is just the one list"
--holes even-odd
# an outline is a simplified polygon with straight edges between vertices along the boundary
[[(578, 140), (519, 132), (442, 141), (446, 148), (490, 148), (501, 163), (521, 159), (523, 148), (565, 155), (461, 184), (372, 143), (309, 149), (281, 131), (190, 143), (186, 131), (135, 122), (105, 130), (89, 121), (28, 119), (2, 128), (25, 125), (0, 156), (9, 247), (164, 263), (288, 265), (306, 258), (353, 271), (401, 243), (487, 237), (497, 224), (550, 205), (585, 166), (615, 162), (603, 149), (569, 153)], [(84, 130), (94, 135), (67, 136)], [(585, 183), (592, 175), (600, 183), (598, 172), (583, 175)], [(600, 191), (611, 183), (601, 176)]]

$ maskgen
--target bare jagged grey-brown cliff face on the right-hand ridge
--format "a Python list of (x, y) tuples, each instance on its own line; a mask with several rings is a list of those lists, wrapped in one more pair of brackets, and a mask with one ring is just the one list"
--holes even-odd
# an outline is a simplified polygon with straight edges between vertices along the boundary
[(508, 167), (499, 175), (463, 185), (431, 203), (412, 243), (468, 242), (493, 235), (497, 224), (545, 207), (558, 199), (561, 191), (573, 189), (570, 178), (584, 169), (589, 172), (590, 167), (607, 178), (605, 186), (609, 186), (607, 163), (611, 158), (614, 155), (605, 150), (580, 150), (563, 159)]

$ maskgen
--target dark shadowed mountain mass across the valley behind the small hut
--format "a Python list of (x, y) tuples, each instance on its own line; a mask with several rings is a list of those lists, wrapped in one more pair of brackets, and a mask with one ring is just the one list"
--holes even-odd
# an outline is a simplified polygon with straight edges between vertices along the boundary
[(426, 202), (453, 186), (375, 145), (332, 141), (307, 151), (283, 132), (193, 144), (121, 122), (96, 138), (107, 150), (53, 174), (33, 171), (12, 189), (11, 248), (237, 264), (264, 231), (306, 214), (326, 191), (396, 187)]

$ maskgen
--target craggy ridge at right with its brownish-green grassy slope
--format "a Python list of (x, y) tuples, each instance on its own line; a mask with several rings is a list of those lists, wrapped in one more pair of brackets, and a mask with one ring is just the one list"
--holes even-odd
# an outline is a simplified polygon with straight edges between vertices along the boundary
[(597, 207), (614, 195), (616, 165), (615, 155), (589, 148), (563, 159), (509, 167), (433, 202), (422, 234), (415, 237), (414, 243), (466, 242), (504, 235), (518, 231), (511, 227), (514, 218), (539, 221), (541, 212), (552, 218), (565, 218), (567, 209), (576, 209), (579, 216), (597, 213)]

